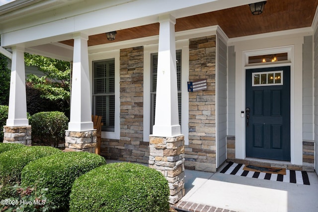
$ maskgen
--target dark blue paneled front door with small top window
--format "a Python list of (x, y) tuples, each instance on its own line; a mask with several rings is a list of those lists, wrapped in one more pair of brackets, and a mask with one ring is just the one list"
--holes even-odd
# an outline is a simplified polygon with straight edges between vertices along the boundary
[(290, 67), (246, 70), (246, 157), (290, 161)]

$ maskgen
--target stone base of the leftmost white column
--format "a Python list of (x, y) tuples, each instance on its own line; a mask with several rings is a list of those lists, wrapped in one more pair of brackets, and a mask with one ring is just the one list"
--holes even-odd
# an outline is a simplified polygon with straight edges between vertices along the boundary
[(22, 143), (31, 145), (31, 126), (8, 127), (3, 126), (3, 143)]

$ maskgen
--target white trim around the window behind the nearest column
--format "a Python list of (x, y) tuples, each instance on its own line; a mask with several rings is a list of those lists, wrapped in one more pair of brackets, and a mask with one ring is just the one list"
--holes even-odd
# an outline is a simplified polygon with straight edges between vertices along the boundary
[[(181, 133), (184, 143), (189, 144), (189, 40), (176, 41), (176, 50), (181, 50)], [(150, 135), (150, 86), (151, 86), (151, 54), (158, 53), (158, 44), (144, 47), (144, 141), (149, 142)]]

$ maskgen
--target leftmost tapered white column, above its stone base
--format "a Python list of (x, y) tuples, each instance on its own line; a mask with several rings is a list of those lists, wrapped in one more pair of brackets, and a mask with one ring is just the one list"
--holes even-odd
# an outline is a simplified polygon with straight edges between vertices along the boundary
[(28, 125), (29, 121), (26, 117), (24, 48), (12, 47), (9, 112), (6, 126)]

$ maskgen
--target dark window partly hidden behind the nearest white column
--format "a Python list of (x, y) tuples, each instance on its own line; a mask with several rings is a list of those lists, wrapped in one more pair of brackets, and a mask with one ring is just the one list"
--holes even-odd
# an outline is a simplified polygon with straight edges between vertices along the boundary
[[(176, 51), (179, 125), (181, 125), (181, 50)], [(156, 111), (158, 53), (151, 54), (151, 88), (150, 88), (150, 134), (153, 133)]]

